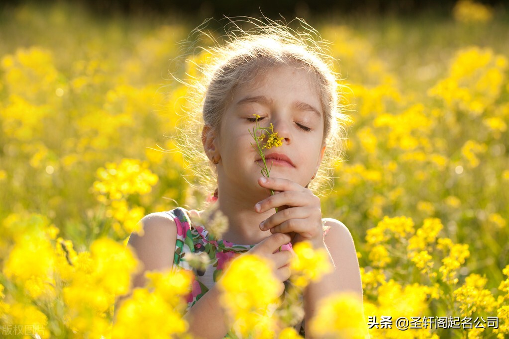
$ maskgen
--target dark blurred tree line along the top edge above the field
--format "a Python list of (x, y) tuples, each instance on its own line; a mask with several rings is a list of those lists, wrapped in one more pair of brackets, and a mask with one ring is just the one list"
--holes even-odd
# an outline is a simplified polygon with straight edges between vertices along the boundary
[[(41, 0), (37, 3), (80, 4), (97, 14), (125, 13), (130, 15), (173, 13), (177, 15), (221, 18), (223, 16), (257, 16), (277, 18), (307, 17), (308, 15), (341, 14), (394, 14), (411, 15), (423, 12), (448, 15), (457, 0)], [(481, 0), (496, 11), (504, 10), (506, 0)], [(26, 3), (23, 0), (4, 0), (4, 6)], [(2, 10), (2, 7), (0, 7)]]

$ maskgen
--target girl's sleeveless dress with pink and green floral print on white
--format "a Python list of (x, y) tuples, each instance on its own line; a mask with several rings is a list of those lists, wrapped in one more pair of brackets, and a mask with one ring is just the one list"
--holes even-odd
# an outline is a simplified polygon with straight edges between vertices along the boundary
[[(190, 211), (178, 207), (166, 211), (177, 226), (177, 241), (173, 259), (173, 269), (187, 269), (194, 273), (191, 293), (187, 297), (187, 310), (190, 309), (202, 296), (219, 280), (225, 265), (238, 255), (249, 251), (254, 245), (239, 245), (232, 242), (215, 239), (204, 225), (193, 223)], [(324, 236), (328, 228), (324, 227)], [(289, 244), (291, 248), (291, 244)], [(191, 267), (186, 261), (186, 254), (200, 254), (205, 252), (209, 257), (209, 264), (205, 270)], [(288, 287), (288, 281), (285, 283)], [(286, 292), (285, 292), (286, 293)], [(295, 329), (304, 336), (304, 321), (300, 321)], [(235, 330), (231, 329), (225, 338), (238, 338)]]

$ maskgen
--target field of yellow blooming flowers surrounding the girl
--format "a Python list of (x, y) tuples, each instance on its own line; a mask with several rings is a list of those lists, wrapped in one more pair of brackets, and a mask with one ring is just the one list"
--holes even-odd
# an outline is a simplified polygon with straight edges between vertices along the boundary
[[(508, 19), (463, 1), (446, 17), (309, 20), (346, 85), (348, 149), (320, 197), (354, 237), (365, 317), (331, 298), (318, 337), (509, 336)], [(0, 12), (0, 337), (189, 337), (186, 272), (152, 273), (112, 319), (139, 269), (125, 246), (138, 221), (212, 194), (189, 184), (172, 138), (187, 89), (168, 69), (194, 76), (185, 57), (206, 60), (183, 55), (192, 28), (65, 5)], [(249, 317), (274, 301), (259, 261), (231, 267), (225, 293), (243, 301), (225, 307), (246, 336), (274, 337), (275, 322)], [(233, 282), (250, 274), (247, 298)], [(298, 312), (277, 313), (276, 337), (299, 337)]]

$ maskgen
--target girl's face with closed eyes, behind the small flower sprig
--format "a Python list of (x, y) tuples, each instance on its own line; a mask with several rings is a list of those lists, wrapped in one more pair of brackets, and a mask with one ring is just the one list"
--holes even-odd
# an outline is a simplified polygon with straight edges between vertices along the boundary
[[(274, 162), (270, 176), (306, 186), (318, 170), (325, 150), (324, 113), (315, 77), (292, 66), (269, 69), (237, 88), (224, 112), (220, 135), (214, 139), (221, 158), (218, 180), (248, 190), (264, 190), (257, 183), (263, 163), (257, 149), (251, 146), (254, 140), (249, 134), (255, 126), (253, 114), (261, 116), (261, 127), (272, 123), (274, 132), (284, 138), (282, 146), (264, 150), (266, 156), (279, 153), (290, 160)], [(269, 168), (270, 163), (267, 159)]]

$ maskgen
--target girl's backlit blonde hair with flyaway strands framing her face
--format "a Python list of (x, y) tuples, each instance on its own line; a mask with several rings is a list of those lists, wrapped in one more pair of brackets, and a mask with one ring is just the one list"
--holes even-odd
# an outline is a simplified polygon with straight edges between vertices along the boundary
[[(193, 31), (212, 39), (216, 46), (201, 48), (203, 51), (199, 59), (205, 61), (201, 64), (192, 58), (186, 60), (198, 76), (181, 81), (187, 87), (188, 115), (177, 143), (198, 183), (208, 192), (213, 192), (217, 186), (215, 164), (208, 159), (202, 139), (198, 137), (202, 135), (204, 125), (220, 133), (224, 110), (237, 87), (252, 81), (264, 70), (298, 65), (316, 77), (325, 115), (324, 141), (327, 148), (320, 169), (309, 184), (309, 189), (319, 194), (319, 189), (326, 185), (332, 188), (334, 164), (344, 155), (346, 123), (350, 120), (344, 114), (345, 107), (340, 105), (344, 85), (340, 84), (340, 75), (334, 71), (335, 59), (326, 53), (327, 43), (320, 39), (314, 28), (302, 19), (296, 19), (303, 28), (302, 32), (293, 30), (288, 24), (263, 20), (267, 22), (255, 19), (231, 21), (226, 42), (222, 45), (200, 27)], [(240, 23), (248, 23), (253, 28), (243, 30), (239, 27)], [(207, 175), (210, 173), (212, 175)]]

